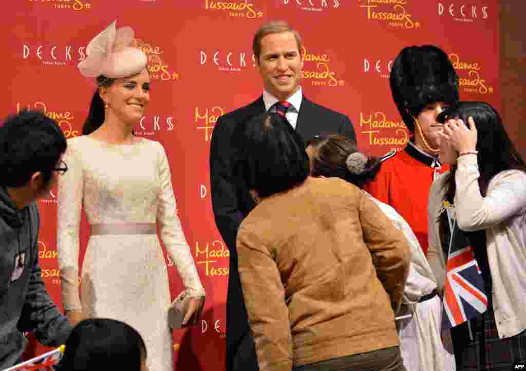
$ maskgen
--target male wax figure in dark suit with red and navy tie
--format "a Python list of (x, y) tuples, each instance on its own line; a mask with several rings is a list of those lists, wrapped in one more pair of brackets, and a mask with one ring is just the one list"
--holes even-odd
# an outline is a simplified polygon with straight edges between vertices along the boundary
[(299, 85), (303, 61), (301, 39), (285, 22), (261, 26), (252, 44), (264, 91), (246, 107), (221, 116), (210, 148), (211, 194), (217, 228), (230, 250), (227, 298), (227, 371), (257, 370), (254, 340), (250, 335), (238, 273), (236, 235), (242, 219), (255, 206), (248, 189), (238, 184), (232, 168), (236, 158), (234, 129), (265, 111), (285, 115), (287, 121), (309, 140), (321, 133), (339, 133), (356, 140), (346, 115), (308, 100)]

